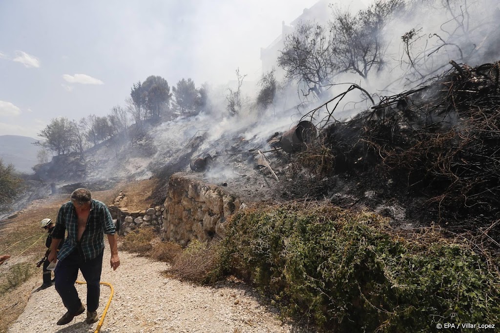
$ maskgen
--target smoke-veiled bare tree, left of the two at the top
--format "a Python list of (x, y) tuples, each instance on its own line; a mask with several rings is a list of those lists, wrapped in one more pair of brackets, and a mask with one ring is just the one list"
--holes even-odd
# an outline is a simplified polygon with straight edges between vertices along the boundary
[(286, 78), (305, 85), (303, 95), (312, 92), (320, 97), (334, 73), (328, 42), (324, 27), (312, 22), (299, 22), (295, 31), (285, 37), (278, 64)]

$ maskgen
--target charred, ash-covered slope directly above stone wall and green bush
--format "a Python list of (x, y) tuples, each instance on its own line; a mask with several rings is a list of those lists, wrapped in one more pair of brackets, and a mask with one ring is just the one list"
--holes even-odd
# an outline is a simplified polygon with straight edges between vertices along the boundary
[[(190, 151), (185, 176), (246, 201), (326, 199), (403, 227), (479, 232), (499, 207), (499, 68), (453, 62), (428, 85), (383, 97), (348, 121), (333, 118), (342, 94), (323, 105), (331, 120), (316, 108), (265, 139), (228, 133), (203, 145), (206, 134), (194, 136), (201, 149)], [(300, 144), (290, 145), (293, 134)]]

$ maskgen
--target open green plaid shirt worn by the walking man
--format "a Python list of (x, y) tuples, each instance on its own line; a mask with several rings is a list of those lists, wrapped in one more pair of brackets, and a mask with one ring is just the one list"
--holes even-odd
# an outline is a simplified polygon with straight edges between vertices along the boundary
[(55, 222), (54, 230), (52, 230), (52, 238), (64, 238), (64, 231), (67, 230), (67, 237), (64, 245), (57, 254), (57, 259), (63, 260), (74, 249), (79, 249), (79, 253), (83, 256), (84, 261), (91, 260), (97, 257), (104, 250), (104, 235), (114, 234), (115, 228), (111, 214), (106, 205), (102, 202), (93, 200), (90, 205), (90, 213), (88, 214), (87, 224), (80, 242), (78, 237), (78, 218), (71, 201), (66, 202), (59, 209), (57, 221)]

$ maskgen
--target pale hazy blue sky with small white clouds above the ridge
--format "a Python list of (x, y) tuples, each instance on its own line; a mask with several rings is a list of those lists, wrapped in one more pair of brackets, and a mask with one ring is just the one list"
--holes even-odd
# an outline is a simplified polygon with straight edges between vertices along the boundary
[(133, 82), (260, 74), (260, 47), (316, 0), (0, 1), (0, 135), (104, 115)]

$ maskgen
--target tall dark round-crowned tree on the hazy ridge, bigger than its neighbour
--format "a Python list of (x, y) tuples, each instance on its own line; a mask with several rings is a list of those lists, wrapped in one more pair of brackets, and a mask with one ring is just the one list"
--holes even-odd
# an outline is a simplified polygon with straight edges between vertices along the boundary
[[(172, 94), (168, 82), (161, 76), (148, 76), (141, 88), (145, 96), (145, 106), (151, 118), (159, 118), (162, 110), (168, 108)], [(132, 97), (133, 98), (133, 97)]]

